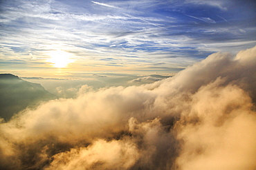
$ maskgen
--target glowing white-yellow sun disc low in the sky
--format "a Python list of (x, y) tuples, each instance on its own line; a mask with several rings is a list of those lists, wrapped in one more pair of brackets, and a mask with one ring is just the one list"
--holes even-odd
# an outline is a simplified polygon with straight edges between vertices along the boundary
[(53, 66), (57, 68), (67, 67), (69, 63), (73, 62), (71, 59), (71, 54), (62, 50), (52, 51), (50, 52), (49, 56), (51, 56), (51, 58), (47, 61), (52, 63)]

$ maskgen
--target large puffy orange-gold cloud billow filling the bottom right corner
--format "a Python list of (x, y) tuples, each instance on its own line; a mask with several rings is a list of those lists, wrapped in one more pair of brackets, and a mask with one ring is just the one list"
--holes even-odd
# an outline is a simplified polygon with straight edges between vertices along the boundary
[(182, 169), (253, 169), (256, 117), (251, 98), (223, 80), (201, 87), (189, 114), (176, 123), (183, 140), (176, 163)]

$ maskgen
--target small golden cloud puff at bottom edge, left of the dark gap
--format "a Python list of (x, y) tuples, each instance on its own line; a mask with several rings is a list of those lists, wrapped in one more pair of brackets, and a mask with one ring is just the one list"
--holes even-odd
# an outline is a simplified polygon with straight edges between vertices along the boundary
[(97, 140), (87, 148), (56, 154), (46, 169), (128, 169), (138, 156), (138, 149), (132, 142)]

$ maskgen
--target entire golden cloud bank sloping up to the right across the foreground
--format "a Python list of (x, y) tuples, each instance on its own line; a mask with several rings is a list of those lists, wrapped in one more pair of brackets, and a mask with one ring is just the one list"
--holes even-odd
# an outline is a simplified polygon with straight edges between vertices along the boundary
[(1, 169), (255, 169), (256, 47), (1, 123)]

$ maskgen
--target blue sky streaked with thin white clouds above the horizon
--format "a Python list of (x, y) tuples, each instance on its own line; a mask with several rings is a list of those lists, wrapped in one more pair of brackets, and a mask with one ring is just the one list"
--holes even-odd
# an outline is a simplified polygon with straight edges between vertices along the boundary
[(0, 72), (19, 76), (166, 75), (256, 45), (253, 1), (2, 0), (0, 8)]

